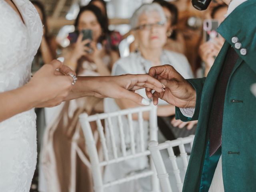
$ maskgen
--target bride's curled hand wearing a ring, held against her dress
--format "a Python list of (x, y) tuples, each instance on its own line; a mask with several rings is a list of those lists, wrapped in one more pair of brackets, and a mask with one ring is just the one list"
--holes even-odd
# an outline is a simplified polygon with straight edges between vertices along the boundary
[[(57, 71), (59, 69), (59, 71)], [(35, 97), (35, 107), (52, 107), (60, 104), (72, 88), (73, 78), (68, 73), (75, 74), (62, 62), (53, 60), (45, 64), (34, 74), (26, 86), (30, 86)]]

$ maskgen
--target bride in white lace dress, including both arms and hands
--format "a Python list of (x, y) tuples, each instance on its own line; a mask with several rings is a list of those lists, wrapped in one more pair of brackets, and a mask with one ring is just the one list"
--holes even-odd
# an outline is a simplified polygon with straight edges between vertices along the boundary
[(148, 75), (78, 77), (75, 82), (75, 73), (57, 60), (45, 64), (30, 79), (42, 34), (39, 15), (29, 0), (0, 0), (1, 192), (30, 190), (36, 167), (35, 107), (84, 96), (148, 104), (134, 90), (148, 87), (162, 92), (162, 84)]

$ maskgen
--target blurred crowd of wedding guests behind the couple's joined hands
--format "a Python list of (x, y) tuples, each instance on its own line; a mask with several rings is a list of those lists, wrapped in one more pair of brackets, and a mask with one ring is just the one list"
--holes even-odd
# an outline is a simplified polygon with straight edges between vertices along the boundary
[[(109, 30), (106, 2), (91, 0), (87, 6), (80, 8), (74, 22), (75, 32), (68, 36), (70, 45), (62, 48), (61, 54), (57, 56), (56, 50), (60, 45), (49, 33), (44, 6), (39, 1), (33, 0), (32, 3), (44, 24), (44, 35), (32, 64), (32, 74), (44, 64), (62, 56), (64, 64), (76, 71), (78, 76), (146, 74), (152, 66), (168, 64), (172, 65), (184, 78), (203, 77), (207, 76), (224, 43), (224, 39), (218, 35), (206, 40), (207, 33), (203, 29), (205, 19), (217, 21), (218, 24), (224, 20), (227, 6), (218, 1), (212, 1), (210, 9), (204, 12), (193, 9), (190, 0), (177, 0), (173, 3), (154, 0), (152, 4), (143, 4), (130, 18), (131, 30), (122, 36), (117, 31)], [(134, 41), (127, 45), (130, 53), (120, 58), (119, 44), (129, 35), (134, 36)], [(147, 98), (144, 90), (139, 90), (138, 93)], [(38, 190), (68, 192), (73, 189), (72, 191), (77, 192), (92, 192), (90, 160), (78, 121), (79, 114), (87, 112), (92, 115), (137, 106), (129, 100), (110, 98), (103, 100), (91, 96), (64, 102), (57, 108), (50, 109), (54, 110), (50, 112), (50, 118), (47, 114), (49, 109), (36, 109)], [(174, 106), (162, 100), (159, 102), (158, 126), (164, 139), (175, 139), (175, 128), (184, 128), (184, 134), (195, 132), (197, 121), (181, 122), (175, 120), (174, 114)], [(148, 119), (148, 116), (145, 113), (144, 119)], [(133, 117), (134, 124), (137, 119), (138, 117)], [(91, 126), (93, 132), (96, 132), (96, 124), (92, 123)], [(113, 122), (113, 127), (117, 130), (117, 123)], [(144, 128), (147, 127), (148, 125), (145, 124)], [(144, 139), (147, 140), (146, 137)], [(98, 142), (99, 153), (100, 147)], [(74, 148), (79, 148), (80, 156), (74, 154)], [(75, 167), (72, 162), (74, 159)], [(73, 183), (70, 179), (72, 166), (76, 170), (76, 179)], [(122, 169), (120, 172), (118, 167), (106, 167), (104, 170), (106, 182), (117, 176), (124, 176), (128, 172), (142, 169), (148, 166), (148, 162), (140, 159), (137, 162), (126, 162), (126, 165), (120, 164), (120, 166), (127, 169)], [(37, 182), (37, 180), (34, 181), (36, 184)], [(128, 183), (128, 191), (147, 191), (143, 182)], [(124, 192), (124, 188), (111, 189), (116, 192), (121, 190)]]

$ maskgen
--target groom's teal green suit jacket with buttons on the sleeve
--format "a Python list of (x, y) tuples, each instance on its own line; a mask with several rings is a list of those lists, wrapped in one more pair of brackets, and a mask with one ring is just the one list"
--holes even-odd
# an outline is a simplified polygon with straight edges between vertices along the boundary
[(226, 42), (207, 78), (188, 80), (196, 90), (194, 116), (187, 118), (176, 108), (177, 119), (198, 120), (183, 192), (198, 192), (200, 189), (212, 98), (228, 48), (230, 45), (234, 47), (231, 41), (234, 36), (238, 37), (242, 48), (246, 48), (247, 54), (242, 55), (240, 50), (235, 49), (239, 58), (226, 89), (222, 124), (222, 175), (225, 192), (255, 192), (256, 98), (250, 87), (256, 82), (256, 0), (248, 0), (238, 6), (222, 22), (218, 32)]

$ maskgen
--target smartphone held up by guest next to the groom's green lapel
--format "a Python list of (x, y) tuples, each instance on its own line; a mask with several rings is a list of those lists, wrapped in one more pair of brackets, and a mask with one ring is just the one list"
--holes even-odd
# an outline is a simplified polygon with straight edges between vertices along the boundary
[(218, 20), (214, 19), (206, 19), (204, 20), (203, 28), (204, 28), (204, 41), (210, 41), (214, 38), (218, 37), (217, 28), (219, 27)]

